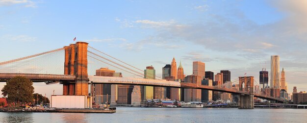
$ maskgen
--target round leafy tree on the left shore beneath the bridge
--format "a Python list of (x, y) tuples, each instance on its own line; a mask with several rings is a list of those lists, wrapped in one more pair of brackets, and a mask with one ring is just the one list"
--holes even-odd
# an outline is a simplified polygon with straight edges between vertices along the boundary
[(2, 88), (2, 95), (7, 96), (9, 103), (31, 102), (33, 99), (34, 87), (33, 82), (24, 76), (16, 76), (6, 82)]

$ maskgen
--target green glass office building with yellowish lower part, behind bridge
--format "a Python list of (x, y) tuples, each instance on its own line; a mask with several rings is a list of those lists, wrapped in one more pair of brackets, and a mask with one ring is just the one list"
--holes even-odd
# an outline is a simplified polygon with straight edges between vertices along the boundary
[[(155, 79), (153, 66), (147, 66), (144, 70), (144, 78)], [(153, 86), (144, 86), (144, 99), (153, 99)]]

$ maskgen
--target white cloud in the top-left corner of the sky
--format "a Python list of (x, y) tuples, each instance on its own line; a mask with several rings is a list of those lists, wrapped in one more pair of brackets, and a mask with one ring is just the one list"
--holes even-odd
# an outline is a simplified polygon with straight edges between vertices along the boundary
[(36, 3), (30, 0), (0, 0), (0, 6), (11, 6), (15, 4), (24, 4), (25, 7), (35, 8)]

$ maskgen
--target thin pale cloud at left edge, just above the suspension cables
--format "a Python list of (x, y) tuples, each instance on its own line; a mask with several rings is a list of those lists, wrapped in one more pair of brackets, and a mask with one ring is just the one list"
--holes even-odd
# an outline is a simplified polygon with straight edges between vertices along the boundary
[(36, 37), (30, 37), (27, 35), (2, 35), (0, 36), (1, 42), (18, 41), (18, 42), (35, 42)]

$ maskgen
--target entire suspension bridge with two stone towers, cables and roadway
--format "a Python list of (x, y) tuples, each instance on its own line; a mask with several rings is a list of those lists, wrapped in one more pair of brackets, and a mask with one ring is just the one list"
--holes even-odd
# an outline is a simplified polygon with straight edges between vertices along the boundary
[[(93, 73), (101, 67), (116, 68), (118, 71), (130, 74), (132, 77), (95, 76)], [(26, 76), (33, 82), (45, 82), (46, 86), (48, 84), (60, 83), (63, 85), (63, 95), (88, 96), (89, 84), (104, 83), (226, 92), (239, 95), (239, 108), (254, 108), (254, 97), (286, 103), (286, 100), (281, 98), (255, 93), (254, 84), (256, 81), (253, 76), (239, 77), (238, 90), (222, 86), (146, 79), (142, 70), (90, 47), (86, 42), (77, 42), (64, 48), (0, 63), (0, 82), (6, 82), (15, 76)]]

